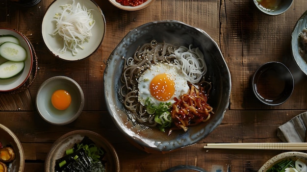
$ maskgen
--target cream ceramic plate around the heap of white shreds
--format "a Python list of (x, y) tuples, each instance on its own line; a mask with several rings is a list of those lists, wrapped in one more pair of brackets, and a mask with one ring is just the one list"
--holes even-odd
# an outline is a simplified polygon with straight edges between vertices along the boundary
[(45, 45), (54, 56), (67, 61), (81, 60), (89, 57), (100, 47), (105, 34), (105, 18), (101, 8), (92, 0), (75, 0), (75, 3), (77, 2), (79, 2), (81, 6), (84, 5), (87, 9), (93, 9), (91, 13), (96, 22), (91, 30), (93, 36), (90, 38), (89, 42), (82, 44), (84, 49), (78, 49), (77, 55), (73, 55), (70, 50), (67, 50), (65, 53), (60, 53), (58, 49), (63, 48), (63, 39), (58, 34), (54, 37), (51, 36), (56, 25), (55, 22), (51, 22), (55, 13), (60, 13), (62, 11), (60, 6), (67, 3), (71, 4), (72, 0), (54, 0), (45, 13), (42, 22), (42, 36)]

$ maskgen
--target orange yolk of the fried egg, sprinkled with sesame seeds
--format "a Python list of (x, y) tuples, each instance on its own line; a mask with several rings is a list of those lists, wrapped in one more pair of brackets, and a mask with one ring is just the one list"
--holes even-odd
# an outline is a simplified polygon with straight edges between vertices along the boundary
[(149, 88), (153, 98), (166, 101), (175, 93), (175, 82), (168, 74), (157, 74), (153, 77)]

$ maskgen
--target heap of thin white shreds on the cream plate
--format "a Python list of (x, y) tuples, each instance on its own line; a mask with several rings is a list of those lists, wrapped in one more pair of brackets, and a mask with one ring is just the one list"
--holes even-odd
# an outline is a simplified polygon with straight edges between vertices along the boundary
[(59, 49), (61, 53), (65, 53), (67, 49), (72, 51), (73, 55), (77, 55), (77, 48), (84, 49), (82, 44), (88, 42), (92, 36), (91, 29), (95, 25), (95, 20), (85, 6), (81, 7), (80, 3), (62, 5), (62, 13), (56, 13), (53, 21), (56, 21), (56, 29), (52, 36), (59, 34), (63, 38), (64, 46)]

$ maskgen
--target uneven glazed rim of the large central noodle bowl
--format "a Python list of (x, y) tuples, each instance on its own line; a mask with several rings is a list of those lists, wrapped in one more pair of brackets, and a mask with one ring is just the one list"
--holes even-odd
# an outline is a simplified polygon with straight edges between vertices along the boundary
[[(138, 141), (137, 146), (141, 147), (142, 150), (146, 151), (146, 152), (151, 152), (153, 150), (154, 153), (156, 153), (157, 151), (159, 153), (168, 153), (168, 152), (171, 152), (173, 150), (176, 150), (176, 149), (179, 149), (179, 148), (183, 148), (183, 147), (187, 147), (187, 146), (191, 146), (191, 145), (194, 145), (196, 144), (197, 141), (200, 140), (200, 138), (204, 138), (205, 136), (207, 136), (206, 133), (202, 133), (201, 136), (202, 137), (199, 137), (199, 135), (197, 137), (194, 137), (193, 135), (193, 143), (189, 143), (188, 145), (179, 145), (177, 144), (177, 142), (175, 143), (175, 140), (172, 140), (172, 142), (155, 142), (155, 143), (151, 143), (152, 140), (148, 139), (148, 140), (140, 140), (139, 137), (136, 137), (136, 136), (133, 136), (131, 135), (130, 132), (125, 132), (125, 130), (123, 128), (122, 125), (124, 125), (123, 123), (120, 123), (119, 121), (122, 121), (122, 119), (119, 118), (119, 121), (117, 121), (117, 117), (116, 117), (116, 113), (114, 113), (116, 110), (115, 109), (118, 109), (117, 107), (117, 104), (114, 104), (113, 101), (111, 101), (110, 99), (112, 97), (114, 97), (114, 94), (115, 93), (109, 93), (107, 89), (110, 89), (110, 85), (107, 85), (109, 84), (109, 81), (106, 80), (106, 76), (111, 76), (111, 75), (114, 75), (113, 74), (113, 70), (111, 70), (111, 66), (110, 66), (110, 63), (115, 63), (116, 65), (119, 65), (117, 60), (118, 58), (122, 58), (122, 57), (117, 57), (119, 55), (116, 55), (118, 54), (117, 52), (117, 49), (118, 47), (121, 45), (121, 44), (125, 44), (125, 38), (128, 37), (128, 35), (130, 35), (132, 32), (139, 32), (141, 30), (141, 28), (143, 27), (146, 27), (147, 25), (159, 25), (159, 24), (166, 24), (166, 25), (180, 25), (180, 26), (185, 26), (185, 27), (188, 27), (188, 28), (192, 28), (193, 30), (197, 31), (197, 32), (200, 32), (201, 34), (205, 35), (205, 37), (207, 37), (208, 39), (210, 39), (212, 41), (212, 46), (214, 46), (215, 48), (217, 48), (217, 53), (219, 54), (219, 56), (221, 56), (221, 60), (220, 61), (223, 61), (223, 68), (225, 69), (224, 72), (226, 73), (227, 71), (227, 76), (225, 77), (225, 80), (228, 80), (229, 82), (225, 85), (225, 89), (227, 88), (228, 89), (228, 92), (223, 94), (223, 97), (225, 97), (224, 99), (227, 98), (227, 100), (222, 100), (222, 103), (223, 103), (223, 106), (221, 107), (221, 109), (219, 110), (219, 118), (218, 120), (215, 121), (214, 124), (209, 124), (209, 125), (206, 125), (206, 126), (210, 126), (212, 128), (215, 128), (216, 126), (218, 126), (223, 118), (224, 118), (224, 115), (229, 107), (229, 102), (230, 102), (230, 92), (231, 92), (231, 74), (230, 74), (230, 71), (229, 71), (229, 68), (227, 66), (227, 63), (225, 61), (225, 58), (223, 56), (223, 53), (221, 52), (221, 50), (219, 49), (217, 43), (202, 29), (200, 28), (197, 28), (197, 27), (194, 27), (194, 26), (191, 26), (191, 25), (187, 25), (183, 22), (179, 22), (179, 21), (176, 21), (176, 20), (162, 20), (162, 21), (154, 21), (154, 22), (149, 22), (149, 23), (146, 23), (146, 24), (143, 24), (143, 25), (139, 25), (137, 26), (136, 28), (133, 28), (131, 29), (126, 36), (123, 37), (123, 39), (120, 41), (120, 43), (115, 47), (115, 49), (113, 50), (113, 52), (110, 54), (108, 60), (107, 60), (107, 66), (105, 68), (105, 71), (104, 71), (104, 77), (103, 77), (103, 84), (104, 84), (104, 98), (105, 98), (105, 102), (106, 102), (106, 105), (107, 105), (107, 109), (108, 109), (108, 113), (109, 115), (111, 116), (113, 122), (115, 123), (115, 125), (117, 126), (117, 128), (120, 129), (120, 131), (128, 138), (129, 141)], [(127, 44), (125, 44), (127, 46)], [(116, 57), (115, 57), (115, 55)], [(111, 70), (111, 71), (110, 71)], [(111, 74), (108, 74), (108, 73), (111, 73)], [(112, 77), (113, 78), (113, 77)], [(108, 78), (110, 79), (110, 78)], [(116, 92), (116, 91), (115, 91)], [(225, 106), (224, 106), (225, 104)], [(213, 125), (213, 126), (212, 126)], [(205, 128), (205, 127), (204, 127)], [(211, 133), (213, 130), (211, 130), (211, 128), (208, 130), (209, 133)], [(180, 138), (181, 137), (185, 137), (187, 136), (186, 133), (184, 133), (183, 135), (180, 135)], [(195, 134), (196, 135), (196, 134)], [(153, 145), (153, 144), (157, 144), (157, 145)]]

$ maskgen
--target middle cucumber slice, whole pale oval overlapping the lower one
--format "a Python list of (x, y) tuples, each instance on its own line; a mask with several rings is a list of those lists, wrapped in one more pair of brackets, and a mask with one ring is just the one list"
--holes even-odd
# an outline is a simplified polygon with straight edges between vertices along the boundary
[(0, 56), (10, 61), (25, 61), (26, 49), (18, 44), (5, 42), (0, 45)]

